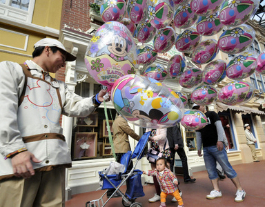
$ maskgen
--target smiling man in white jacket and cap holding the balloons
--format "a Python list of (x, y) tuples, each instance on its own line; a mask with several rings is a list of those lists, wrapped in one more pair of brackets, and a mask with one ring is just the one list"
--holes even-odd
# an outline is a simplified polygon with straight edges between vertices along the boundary
[(32, 57), (0, 63), (0, 206), (59, 207), (72, 163), (60, 117), (86, 117), (109, 97), (80, 97), (49, 75), (76, 59), (56, 39), (37, 41)]

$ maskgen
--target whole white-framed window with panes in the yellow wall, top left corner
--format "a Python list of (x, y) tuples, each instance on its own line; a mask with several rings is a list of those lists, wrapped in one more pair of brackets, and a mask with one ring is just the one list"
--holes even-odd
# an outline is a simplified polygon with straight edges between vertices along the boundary
[(0, 17), (31, 23), (35, 0), (0, 0)]

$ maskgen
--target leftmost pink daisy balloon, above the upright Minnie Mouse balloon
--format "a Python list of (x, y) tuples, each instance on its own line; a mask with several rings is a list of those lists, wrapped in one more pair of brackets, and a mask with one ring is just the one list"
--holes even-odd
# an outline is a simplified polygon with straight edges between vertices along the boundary
[(126, 2), (124, 0), (104, 0), (100, 6), (100, 16), (104, 22), (121, 21), (124, 18)]

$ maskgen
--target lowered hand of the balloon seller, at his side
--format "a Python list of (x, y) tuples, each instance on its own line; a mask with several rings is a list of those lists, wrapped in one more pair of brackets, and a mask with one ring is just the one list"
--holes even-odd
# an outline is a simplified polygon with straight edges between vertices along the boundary
[(12, 157), (11, 162), (13, 166), (13, 172), (16, 177), (29, 178), (35, 175), (35, 170), (32, 167), (31, 161), (41, 162), (31, 152), (20, 152)]

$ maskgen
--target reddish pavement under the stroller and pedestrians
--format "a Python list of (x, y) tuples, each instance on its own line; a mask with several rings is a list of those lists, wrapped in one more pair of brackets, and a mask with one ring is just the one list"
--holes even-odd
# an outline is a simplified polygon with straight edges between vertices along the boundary
[[(223, 181), (219, 181), (219, 187), (222, 191), (223, 197), (216, 199), (206, 199), (206, 195), (212, 190), (212, 185), (208, 179), (206, 171), (194, 172), (193, 177), (197, 180), (193, 184), (184, 184), (183, 177), (178, 176), (180, 181), (179, 188), (182, 190), (182, 199), (185, 207), (204, 206), (204, 207), (219, 207), (219, 206), (251, 206), (262, 207), (265, 206), (265, 161), (262, 160), (259, 163), (240, 164), (233, 166), (237, 175), (239, 176), (242, 188), (246, 191), (246, 199), (243, 202), (236, 203), (235, 193), (236, 189), (230, 179), (226, 178)], [(121, 187), (121, 191), (125, 193), (126, 186)], [(142, 206), (158, 207), (159, 201), (156, 203), (149, 203), (148, 199), (155, 194), (155, 187), (152, 184), (144, 186), (144, 197), (139, 197), (135, 201), (141, 203)], [(92, 191), (89, 193), (81, 193), (79, 195), (73, 195), (72, 199), (66, 201), (66, 207), (84, 207), (86, 201), (92, 199), (99, 199), (104, 194), (104, 190)], [(166, 199), (166, 206), (177, 206), (177, 203), (172, 203), (170, 195)], [(106, 199), (104, 200), (106, 201)], [(106, 204), (107, 207), (119, 207), (121, 204), (121, 198), (112, 198)]]

